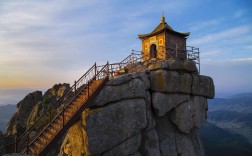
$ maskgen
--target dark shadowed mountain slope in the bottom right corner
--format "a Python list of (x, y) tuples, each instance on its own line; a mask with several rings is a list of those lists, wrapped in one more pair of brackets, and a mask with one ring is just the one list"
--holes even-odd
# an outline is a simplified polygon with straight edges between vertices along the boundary
[(251, 156), (252, 145), (242, 135), (206, 123), (200, 130), (206, 156)]

